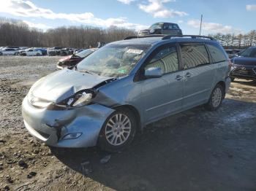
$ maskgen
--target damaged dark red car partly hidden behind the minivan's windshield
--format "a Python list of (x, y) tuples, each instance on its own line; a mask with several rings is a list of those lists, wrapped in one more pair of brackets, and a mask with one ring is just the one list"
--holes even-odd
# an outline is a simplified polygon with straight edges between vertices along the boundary
[(58, 69), (72, 68), (75, 65), (77, 65), (80, 61), (82, 61), (84, 58), (89, 56), (95, 50), (97, 50), (97, 48), (86, 49), (81, 52), (78, 52), (75, 55), (69, 55), (67, 57), (61, 58), (57, 63), (57, 68)]

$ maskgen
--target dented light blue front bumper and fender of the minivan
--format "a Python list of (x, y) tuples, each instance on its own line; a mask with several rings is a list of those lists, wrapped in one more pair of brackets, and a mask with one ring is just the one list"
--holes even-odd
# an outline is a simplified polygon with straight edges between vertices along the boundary
[[(27, 96), (22, 104), (26, 129), (32, 136), (51, 147), (96, 146), (102, 125), (112, 112), (114, 109), (99, 104), (69, 110), (39, 109), (29, 103)], [(70, 134), (79, 136), (65, 139)]]

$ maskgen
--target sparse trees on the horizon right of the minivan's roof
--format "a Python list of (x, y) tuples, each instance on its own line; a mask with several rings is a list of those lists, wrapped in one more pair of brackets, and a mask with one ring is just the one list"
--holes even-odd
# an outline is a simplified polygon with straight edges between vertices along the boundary
[(245, 48), (256, 46), (256, 30), (252, 30), (247, 34), (209, 34), (208, 36), (217, 39), (225, 48)]

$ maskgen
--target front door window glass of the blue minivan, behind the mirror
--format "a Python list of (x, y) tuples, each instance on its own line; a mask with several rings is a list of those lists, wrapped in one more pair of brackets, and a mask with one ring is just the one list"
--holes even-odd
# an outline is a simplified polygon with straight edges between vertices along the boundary
[(176, 47), (162, 47), (157, 50), (154, 57), (146, 65), (145, 69), (159, 67), (162, 74), (167, 74), (178, 70), (178, 55)]

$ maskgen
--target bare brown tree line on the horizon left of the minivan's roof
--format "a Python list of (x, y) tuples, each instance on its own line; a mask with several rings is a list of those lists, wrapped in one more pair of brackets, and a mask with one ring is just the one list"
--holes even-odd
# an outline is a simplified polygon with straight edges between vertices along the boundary
[(135, 36), (127, 28), (69, 26), (48, 29), (30, 28), (20, 20), (0, 18), (0, 47), (96, 47), (98, 42), (113, 42)]

